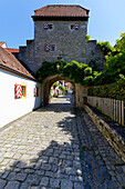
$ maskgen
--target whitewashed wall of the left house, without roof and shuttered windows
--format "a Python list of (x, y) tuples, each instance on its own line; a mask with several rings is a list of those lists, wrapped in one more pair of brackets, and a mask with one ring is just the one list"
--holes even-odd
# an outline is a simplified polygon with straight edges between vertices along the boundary
[[(27, 84), (27, 98), (14, 98), (14, 84)], [(39, 98), (33, 97), (39, 87)], [(0, 128), (41, 106), (41, 84), (0, 69)]]

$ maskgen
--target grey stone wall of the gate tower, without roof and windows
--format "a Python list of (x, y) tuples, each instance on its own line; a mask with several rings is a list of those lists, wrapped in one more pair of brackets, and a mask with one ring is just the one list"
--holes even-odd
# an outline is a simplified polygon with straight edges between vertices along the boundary
[[(20, 47), (18, 59), (23, 61), (34, 73), (44, 60), (97, 64), (102, 69), (105, 62), (95, 40), (85, 41), (86, 21), (51, 21), (52, 30), (44, 30), (45, 21), (34, 21), (34, 40), (28, 40), (27, 47)], [(79, 30), (71, 30), (71, 24), (79, 24)], [(44, 51), (45, 43), (55, 44), (55, 51)], [(95, 63), (96, 62), (96, 63)]]

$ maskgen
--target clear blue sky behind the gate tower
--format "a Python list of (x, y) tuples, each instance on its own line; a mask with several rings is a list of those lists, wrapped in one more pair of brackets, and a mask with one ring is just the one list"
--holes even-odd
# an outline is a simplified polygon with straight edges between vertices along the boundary
[(1, 0), (0, 41), (9, 48), (25, 46), (34, 38), (34, 10), (46, 4), (80, 4), (90, 9), (88, 31), (91, 39), (110, 41), (112, 46), (125, 32), (125, 0)]

